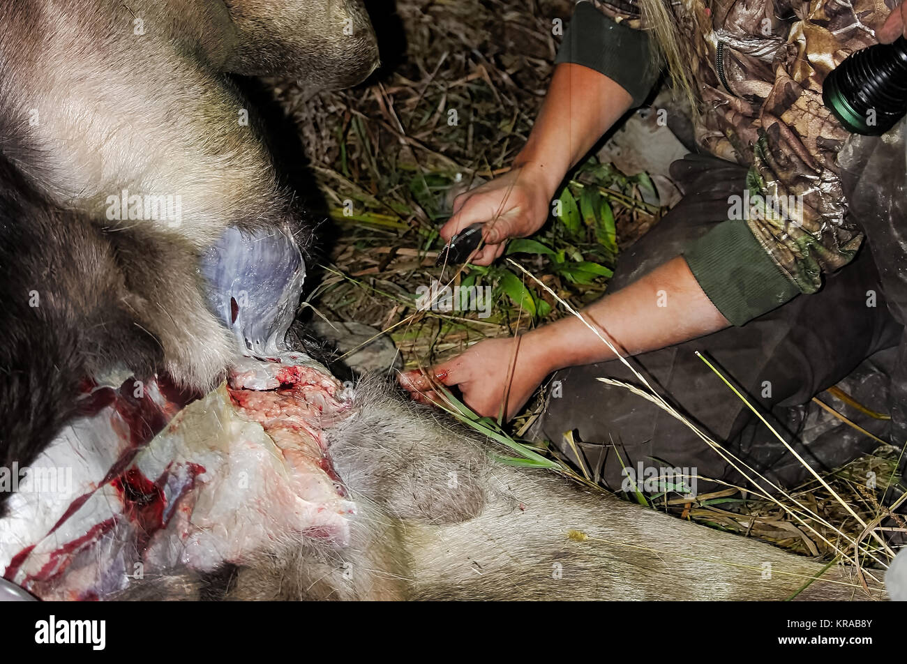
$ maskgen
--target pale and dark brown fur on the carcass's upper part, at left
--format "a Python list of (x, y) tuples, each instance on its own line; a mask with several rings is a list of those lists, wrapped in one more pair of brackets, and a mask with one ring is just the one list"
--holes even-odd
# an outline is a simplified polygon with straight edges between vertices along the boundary
[[(236, 344), (206, 306), (200, 254), (228, 226), (311, 235), (230, 73), (326, 87), (377, 63), (356, 0), (286, 9), (0, 2), (0, 463), (34, 459), (80, 381), (112, 366), (196, 391), (224, 375)], [(180, 219), (112, 219), (123, 190), (179, 196)]]

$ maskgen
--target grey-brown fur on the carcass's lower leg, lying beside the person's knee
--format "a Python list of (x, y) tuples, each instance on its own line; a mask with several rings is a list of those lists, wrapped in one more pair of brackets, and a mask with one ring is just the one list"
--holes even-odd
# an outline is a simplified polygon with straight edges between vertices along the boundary
[[(783, 600), (814, 577), (798, 600), (867, 598), (844, 567), (823, 574), (765, 543), (496, 464), (489, 441), (379, 380), (355, 398), (356, 416), (328, 431), (359, 505), (349, 545), (288, 536), (224, 570), (213, 599)], [(184, 572), (122, 599), (200, 599), (210, 588)]]

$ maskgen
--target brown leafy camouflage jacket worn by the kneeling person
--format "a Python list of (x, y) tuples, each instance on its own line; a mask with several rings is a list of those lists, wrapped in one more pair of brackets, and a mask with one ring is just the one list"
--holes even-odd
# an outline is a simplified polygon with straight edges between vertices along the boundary
[[(635, 0), (591, 3), (609, 22), (646, 31)], [(750, 200), (781, 202), (685, 252), (717, 308), (742, 324), (820, 288), (822, 274), (844, 266), (861, 244), (835, 164), (850, 134), (824, 107), (822, 82), (848, 54), (876, 43), (873, 28), (891, 10), (883, 0), (682, 0), (671, 10), (691, 38), (699, 146), (751, 167)], [(766, 263), (746, 274), (753, 257), (739, 247), (753, 239), (774, 272)]]

